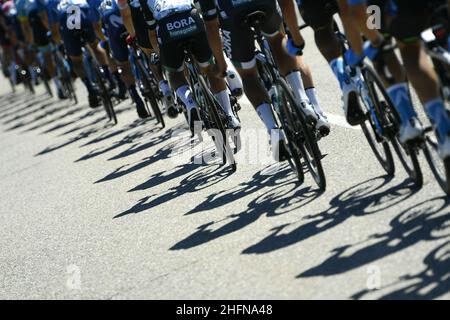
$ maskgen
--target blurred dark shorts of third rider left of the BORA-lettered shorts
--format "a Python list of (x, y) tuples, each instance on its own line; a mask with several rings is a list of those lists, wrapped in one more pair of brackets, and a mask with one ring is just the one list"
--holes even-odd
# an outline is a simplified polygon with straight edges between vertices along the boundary
[(67, 26), (68, 13), (64, 12), (60, 16), (61, 38), (69, 56), (80, 56), (82, 53), (83, 42), (93, 43), (97, 39), (92, 22), (88, 19), (87, 10), (84, 8), (81, 10), (84, 14), (81, 15), (80, 29), (69, 29)]

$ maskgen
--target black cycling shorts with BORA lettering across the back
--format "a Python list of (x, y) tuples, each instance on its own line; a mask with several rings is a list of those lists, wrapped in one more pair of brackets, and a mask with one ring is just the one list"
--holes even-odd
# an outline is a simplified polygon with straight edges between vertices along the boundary
[(187, 48), (201, 67), (212, 62), (212, 51), (206, 36), (205, 25), (196, 9), (168, 16), (156, 28), (161, 64), (169, 71), (184, 67), (184, 48)]

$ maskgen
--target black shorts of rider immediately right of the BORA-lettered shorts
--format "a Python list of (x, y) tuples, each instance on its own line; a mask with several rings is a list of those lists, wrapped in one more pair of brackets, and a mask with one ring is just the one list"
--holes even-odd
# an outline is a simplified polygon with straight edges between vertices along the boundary
[(225, 52), (233, 64), (241, 69), (255, 66), (255, 41), (249, 26), (243, 19), (255, 11), (263, 11), (266, 17), (261, 26), (265, 36), (274, 36), (280, 31), (282, 18), (276, 0), (243, 1), (234, 5), (232, 0), (220, 1), (220, 20)]

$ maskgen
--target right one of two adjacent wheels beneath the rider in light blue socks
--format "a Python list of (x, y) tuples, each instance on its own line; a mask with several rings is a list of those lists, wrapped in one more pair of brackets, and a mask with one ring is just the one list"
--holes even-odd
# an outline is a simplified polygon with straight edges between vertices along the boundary
[(381, 79), (370, 66), (364, 68), (364, 78), (369, 89), (371, 100), (375, 104), (377, 120), (380, 121), (383, 134), (390, 140), (394, 151), (414, 185), (421, 187), (423, 185), (423, 174), (417, 157), (419, 154), (417, 144), (404, 145), (400, 142), (398, 135), (400, 130), (400, 116), (386, 92)]

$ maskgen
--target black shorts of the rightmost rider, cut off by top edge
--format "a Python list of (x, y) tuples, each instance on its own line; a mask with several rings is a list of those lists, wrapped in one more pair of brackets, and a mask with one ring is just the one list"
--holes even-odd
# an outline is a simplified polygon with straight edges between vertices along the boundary
[(397, 7), (389, 26), (391, 34), (404, 43), (416, 42), (431, 26), (433, 11), (446, 0), (393, 0)]

